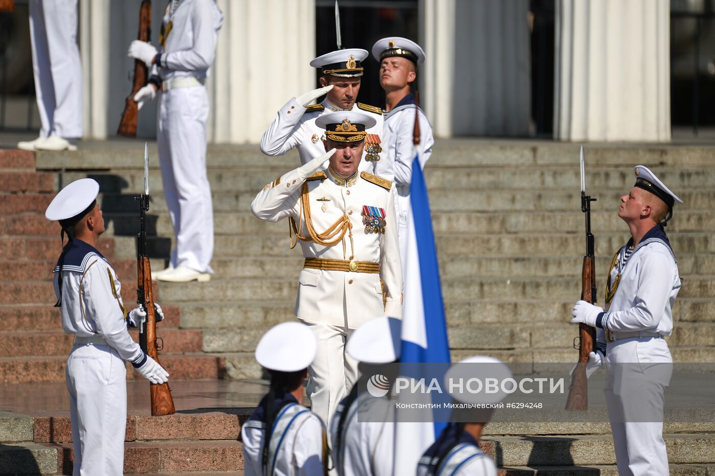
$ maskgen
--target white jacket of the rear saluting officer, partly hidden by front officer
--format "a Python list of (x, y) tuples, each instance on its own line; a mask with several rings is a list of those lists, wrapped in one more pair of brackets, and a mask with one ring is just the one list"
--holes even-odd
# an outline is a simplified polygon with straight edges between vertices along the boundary
[[(325, 154), (325, 147), (322, 144), (322, 139), (325, 135), (325, 129), (315, 125), (315, 119), (322, 114), (327, 114), (332, 111), (341, 111), (330, 104), (330, 101), (324, 99), (320, 104), (312, 106), (303, 106), (298, 104), (295, 98), (285, 104), (278, 110), (276, 118), (271, 122), (266, 132), (261, 137), (261, 152), (270, 156), (284, 155), (290, 149), (296, 147), (300, 156), (300, 163), (307, 164), (315, 157), (320, 157)], [(375, 134), (378, 137), (383, 135), (383, 115), (380, 108), (368, 106), (360, 102), (352, 105), (350, 111), (368, 114), (375, 118), (377, 124), (367, 130), (368, 134)], [(380, 161), (385, 160), (385, 146), (380, 155)], [(367, 149), (367, 147), (365, 147)], [(378, 162), (368, 162), (365, 156), (367, 150), (363, 152), (363, 160), (360, 162), (358, 172), (367, 171), (374, 173), (374, 164)], [(327, 165), (324, 169), (327, 168)]]

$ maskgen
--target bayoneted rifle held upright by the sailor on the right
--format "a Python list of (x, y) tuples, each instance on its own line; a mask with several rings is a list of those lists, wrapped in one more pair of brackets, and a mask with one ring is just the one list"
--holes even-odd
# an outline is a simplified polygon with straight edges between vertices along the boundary
[[(594, 256), (593, 233), (591, 233), (591, 202), (596, 202), (596, 199), (586, 195), (586, 172), (583, 165), (583, 146), (581, 146), (581, 212), (586, 215), (586, 255), (583, 257), (581, 266), (581, 299), (595, 304), (596, 258)], [(576, 347), (575, 343), (573, 347)], [(588, 354), (595, 348), (596, 329), (587, 324), (578, 324), (578, 347), (576, 347), (578, 363), (571, 372), (571, 387), (568, 387), (566, 410), (588, 410), (586, 364), (588, 364)]]

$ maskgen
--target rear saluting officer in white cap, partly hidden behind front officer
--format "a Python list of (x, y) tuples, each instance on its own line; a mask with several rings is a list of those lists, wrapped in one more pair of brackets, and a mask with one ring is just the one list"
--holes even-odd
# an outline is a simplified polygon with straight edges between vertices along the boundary
[[(290, 99), (279, 109), (276, 118), (263, 133), (261, 151), (266, 155), (277, 156), (295, 147), (300, 163), (307, 164), (325, 153), (322, 146), (325, 129), (318, 127), (315, 119), (334, 111), (362, 112), (373, 118), (375, 124), (367, 130), (365, 152), (359, 170), (374, 174), (375, 164), (385, 157), (380, 145), (383, 111), (379, 107), (356, 102), (363, 76), (362, 61), (367, 57), (368, 51), (352, 48), (331, 51), (310, 61), (310, 66), (322, 69), (321, 87)], [(320, 104), (310, 105), (326, 93), (327, 96)]]

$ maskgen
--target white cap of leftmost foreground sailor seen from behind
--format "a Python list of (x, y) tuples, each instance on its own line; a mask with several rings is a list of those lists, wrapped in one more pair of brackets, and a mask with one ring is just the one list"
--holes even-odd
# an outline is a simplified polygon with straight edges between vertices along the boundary
[(297, 372), (315, 360), (315, 334), (300, 322), (283, 322), (271, 327), (256, 346), (257, 362), (268, 370)]

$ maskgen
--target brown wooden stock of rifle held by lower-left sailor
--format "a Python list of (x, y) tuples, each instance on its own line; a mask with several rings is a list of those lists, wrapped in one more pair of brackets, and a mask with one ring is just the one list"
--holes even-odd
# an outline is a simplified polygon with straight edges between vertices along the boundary
[[(156, 314), (154, 313), (152, 268), (149, 264), (149, 258), (139, 257), (137, 260), (137, 268), (139, 270), (137, 282), (139, 283), (139, 289), (141, 289), (141, 287), (144, 288), (144, 309), (147, 311), (147, 321), (144, 322), (147, 346), (146, 352), (149, 358), (156, 360), (157, 364), (159, 364), (157, 321)], [(172, 415), (172, 413), (176, 412), (174, 409), (174, 400), (172, 399), (172, 390), (169, 388), (168, 382), (163, 384), (149, 384), (149, 390), (151, 390), (152, 397), (152, 417), (157, 415)]]

